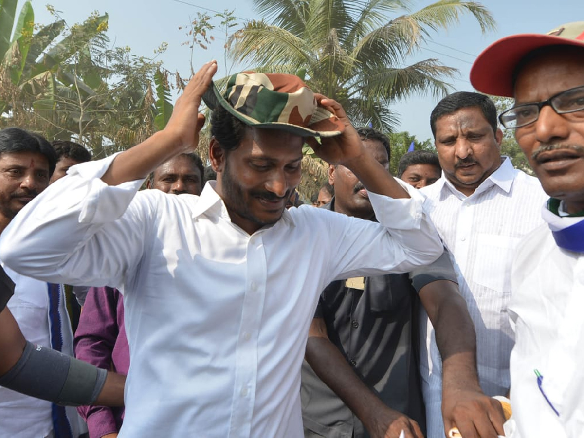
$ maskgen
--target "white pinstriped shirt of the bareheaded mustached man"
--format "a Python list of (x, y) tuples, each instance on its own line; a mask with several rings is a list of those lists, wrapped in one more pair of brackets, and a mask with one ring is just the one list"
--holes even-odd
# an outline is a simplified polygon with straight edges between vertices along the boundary
[[(514, 250), (525, 234), (542, 223), (540, 208), (547, 196), (539, 180), (513, 169), (509, 158), (471, 196), (455, 189), (444, 175), (421, 191), (433, 203), (430, 217), (453, 258), (458, 287), (475, 325), (482, 390), (491, 396), (504, 395), (513, 347), (506, 308)], [(425, 312), (420, 345), (427, 436), (443, 437), (442, 361)]]

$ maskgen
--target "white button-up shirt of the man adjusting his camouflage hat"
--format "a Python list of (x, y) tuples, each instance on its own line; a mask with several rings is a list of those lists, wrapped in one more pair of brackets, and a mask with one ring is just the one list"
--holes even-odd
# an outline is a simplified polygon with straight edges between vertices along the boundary
[(379, 224), (301, 207), (249, 235), (210, 183), (200, 197), (135, 193), (141, 181), (99, 179), (111, 161), (75, 166), (44, 190), (2, 233), (0, 257), (44, 280), (121, 287), (120, 437), (301, 436), (300, 368), (320, 291), (442, 253), (414, 189), (412, 199), (370, 193)]

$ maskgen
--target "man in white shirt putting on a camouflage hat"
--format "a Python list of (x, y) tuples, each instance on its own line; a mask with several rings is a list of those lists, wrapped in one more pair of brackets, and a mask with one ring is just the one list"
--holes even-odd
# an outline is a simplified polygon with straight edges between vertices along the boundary
[[(131, 367), (120, 437), (301, 436), (300, 367), (322, 288), (442, 253), (423, 197), (364, 150), (337, 102), (290, 75), (234, 75), (219, 93), (216, 70), (213, 61), (197, 72), (164, 130), (71, 169), (2, 235), (0, 257), (17, 271), (124, 293)], [(213, 109), (217, 182), (199, 197), (136, 193), (197, 144), (201, 98)], [(379, 223), (285, 209), (305, 138), (359, 176)]]

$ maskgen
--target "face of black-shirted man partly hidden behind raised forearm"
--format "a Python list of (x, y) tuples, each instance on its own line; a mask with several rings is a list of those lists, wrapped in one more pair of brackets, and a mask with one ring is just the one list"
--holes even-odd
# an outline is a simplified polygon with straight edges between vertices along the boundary
[[(387, 151), (379, 140), (363, 140), (363, 145), (389, 172)], [(361, 219), (373, 219), (374, 212), (367, 190), (345, 166), (329, 166), (329, 183), (335, 186), (335, 211)]]

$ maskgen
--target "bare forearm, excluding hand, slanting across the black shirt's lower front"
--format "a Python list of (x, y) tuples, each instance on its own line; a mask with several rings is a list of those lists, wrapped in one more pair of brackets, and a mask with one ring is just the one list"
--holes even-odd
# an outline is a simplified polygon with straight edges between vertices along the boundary
[(305, 358), (317, 376), (367, 427), (374, 419), (380, 399), (361, 381), (338, 348), (326, 338), (311, 336)]

